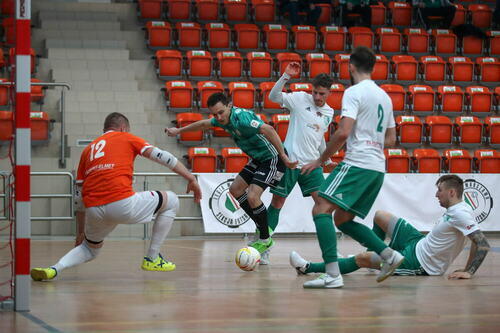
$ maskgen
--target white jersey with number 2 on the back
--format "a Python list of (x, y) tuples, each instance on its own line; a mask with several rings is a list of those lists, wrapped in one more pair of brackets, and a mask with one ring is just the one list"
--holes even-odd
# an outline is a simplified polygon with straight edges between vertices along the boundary
[(385, 132), (396, 127), (389, 95), (372, 80), (363, 80), (345, 91), (342, 117), (356, 120), (347, 138), (344, 162), (385, 172)]

